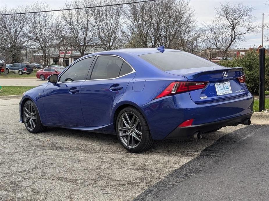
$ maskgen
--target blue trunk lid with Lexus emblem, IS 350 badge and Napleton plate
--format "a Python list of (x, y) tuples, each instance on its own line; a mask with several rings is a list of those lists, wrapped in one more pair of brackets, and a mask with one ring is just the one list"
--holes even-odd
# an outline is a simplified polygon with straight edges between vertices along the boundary
[(195, 103), (219, 101), (247, 94), (245, 84), (238, 81), (238, 77), (241, 77), (244, 74), (242, 67), (227, 68), (223, 66), (214, 66), (166, 72), (184, 76), (189, 82), (208, 82), (204, 89), (189, 92)]

